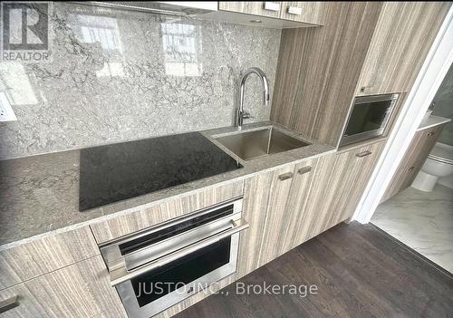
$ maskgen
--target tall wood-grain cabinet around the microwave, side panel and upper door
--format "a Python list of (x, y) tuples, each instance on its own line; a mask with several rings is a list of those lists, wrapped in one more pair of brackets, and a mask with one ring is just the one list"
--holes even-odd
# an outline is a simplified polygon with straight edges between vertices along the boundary
[(326, 2), (323, 26), (282, 32), (271, 120), (337, 146), (354, 96), (410, 91), (450, 6)]

